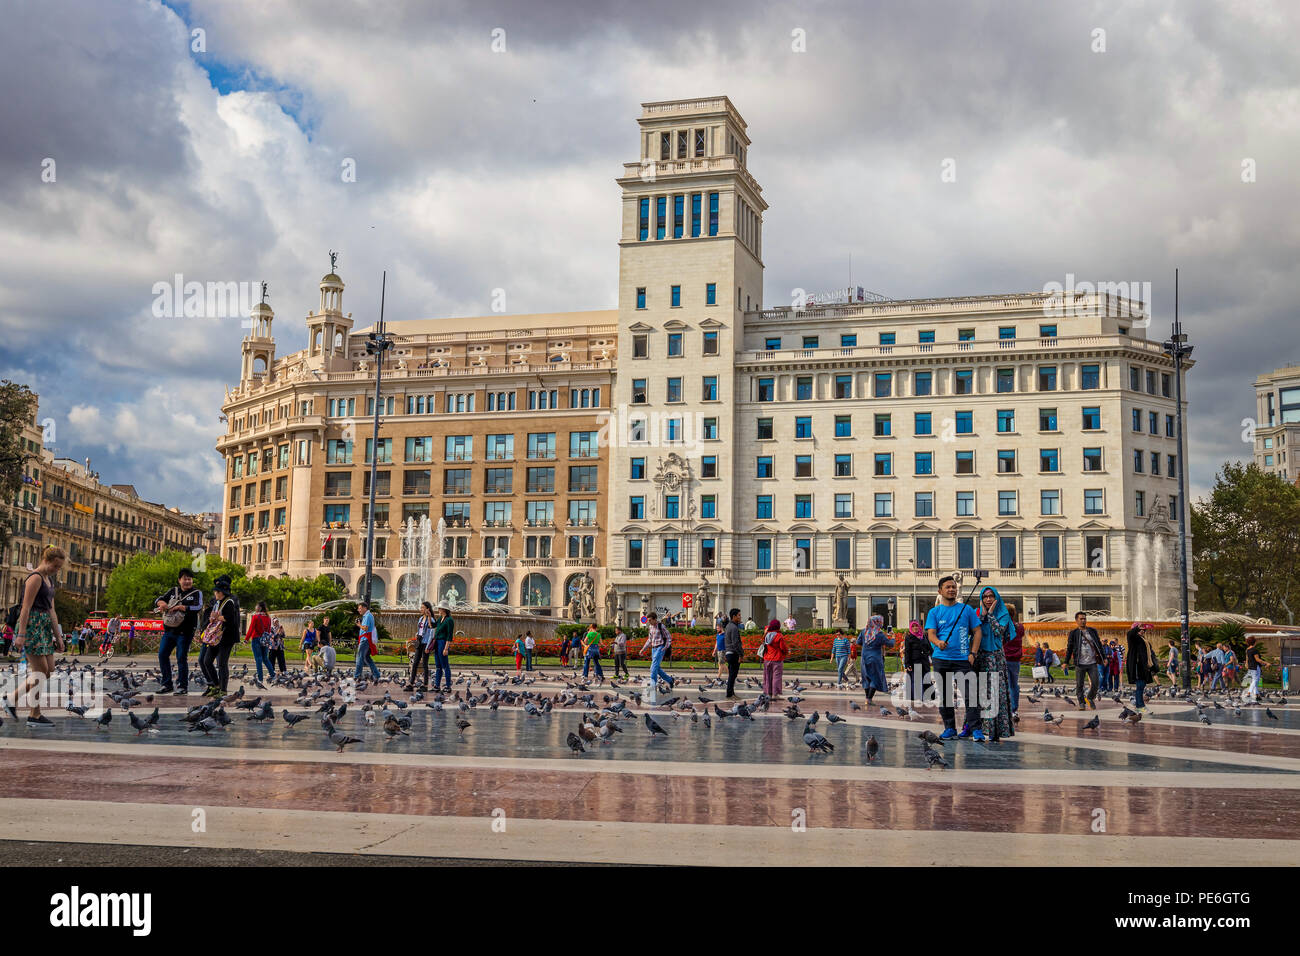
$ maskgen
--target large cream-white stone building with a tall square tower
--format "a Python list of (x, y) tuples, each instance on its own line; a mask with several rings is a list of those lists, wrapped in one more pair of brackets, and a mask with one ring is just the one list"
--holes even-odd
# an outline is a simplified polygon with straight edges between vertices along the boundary
[(831, 626), (846, 588), (848, 623), (905, 622), (976, 568), (1030, 618), (1176, 605), (1173, 363), (1141, 303), (763, 308), (744, 120), (712, 98), (644, 104), (640, 126), (619, 178), (620, 619), (703, 593)]

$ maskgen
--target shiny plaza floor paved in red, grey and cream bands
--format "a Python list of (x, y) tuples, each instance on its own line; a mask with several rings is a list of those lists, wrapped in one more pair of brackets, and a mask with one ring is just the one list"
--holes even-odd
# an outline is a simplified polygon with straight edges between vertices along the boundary
[[(148, 667), (142, 657), (129, 670), (143, 676)], [(708, 672), (682, 667), (676, 674), (677, 708), (690, 704), (694, 714), (637, 704), (629, 695), (644, 689), (638, 680), (618, 688), (593, 682), (584, 689), (571, 671), (542, 670), (511, 683), (512, 674), (486, 669), (458, 670), (452, 697), (437, 710), (428, 706), (432, 696), (410, 701), (399, 672), (386, 671), (394, 679), (363, 689), (338, 721), (339, 731), (359, 737), (343, 753), (316, 713), (325, 696), (299, 705), (295, 688), (257, 689), (242, 663), (231, 688), (243, 684), (246, 701), (269, 698), (274, 719), (251, 721), (248, 710), (229, 705), (229, 726), (190, 732), (181, 718), (204, 702), (199, 695), (133, 708), (140, 717), (160, 709), (156, 726), (139, 735), (118, 705), (107, 727), (95, 711), (51, 710), (53, 727), (44, 730), (6, 717), (0, 857), (186, 864), (194, 862), (188, 852), (202, 851), (209, 860), (285, 864), (328, 853), (350, 861), (649, 865), (1295, 858), (1295, 704), (1269, 702), (1277, 719), (1262, 706), (1238, 715), (1231, 704), (1222, 710), (1206, 704), (1205, 726), (1192, 704), (1161, 697), (1134, 726), (1118, 719), (1121, 704), (1102, 698), (1100, 726), (1092, 730), (1084, 726), (1092, 711), (1048, 688), (1036, 704), (1022, 698), (1014, 737), (948, 741), (946, 769), (932, 769), (916, 735), (941, 730), (933, 711), (905, 719), (880, 696), (867, 706), (861, 692), (803, 675), (797, 706), (803, 715), (820, 714), (818, 730), (835, 747), (815, 754), (802, 741), (806, 718), (781, 713), (788, 701), (753, 719), (723, 718), (714, 702), (729, 705), (722, 688), (705, 687)], [(121, 680), (107, 682), (109, 691), (120, 687)], [(550, 713), (530, 715), (519, 702), (458, 709), (458, 695), (482, 698), (498, 688), (512, 697), (529, 693), (537, 705), (551, 698)], [(1026, 682), (1024, 697), (1030, 688)], [(146, 679), (136, 700), (153, 689), (156, 682)], [(753, 682), (737, 691), (741, 700), (758, 696)], [(588, 693), (595, 708), (581, 700), (563, 704), (566, 695)], [(382, 718), (368, 723), (363, 705), (385, 695), (394, 713), (410, 715), (410, 736), (390, 739)], [(607, 696), (628, 702), (621, 732), (612, 743), (571, 750), (568, 735)], [(308, 719), (290, 727), (286, 709)], [(1044, 722), (1044, 709), (1063, 719)], [(646, 714), (666, 736), (651, 735)], [(831, 722), (828, 714), (842, 719)], [(463, 735), (458, 719), (469, 722)], [(879, 754), (868, 762), (872, 736)], [(1244, 821), (1251, 821), (1248, 838)], [(160, 852), (166, 848), (173, 849)]]

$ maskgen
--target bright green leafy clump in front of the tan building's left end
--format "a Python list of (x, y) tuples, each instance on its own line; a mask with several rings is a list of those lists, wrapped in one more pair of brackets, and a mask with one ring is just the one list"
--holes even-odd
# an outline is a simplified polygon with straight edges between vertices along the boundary
[(250, 578), (243, 564), (235, 564), (214, 554), (203, 557), (203, 567), (194, 568), (187, 551), (161, 551), (135, 554), (118, 564), (109, 575), (104, 591), (104, 607), (109, 614), (148, 617), (153, 614), (153, 601), (176, 584), (183, 567), (195, 571), (194, 583), (204, 598), (212, 594), (212, 581), (221, 575), (230, 576), (230, 589), (243, 607), (254, 607), (265, 601), (270, 610), (299, 609), (344, 597), (342, 589), (329, 578)]

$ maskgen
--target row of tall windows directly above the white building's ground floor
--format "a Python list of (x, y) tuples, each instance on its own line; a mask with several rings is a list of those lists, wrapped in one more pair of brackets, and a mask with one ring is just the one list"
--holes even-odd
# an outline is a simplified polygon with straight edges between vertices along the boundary
[[(935, 564), (935, 538), (911, 537), (913, 554), (907, 558), (907, 566), (918, 571), (933, 570)], [(1037, 568), (1043, 571), (1060, 571), (1062, 568), (1062, 536), (1041, 535), (1037, 538)], [(774, 571), (774, 558), (777, 540), (759, 537), (754, 540), (754, 571)], [(1023, 559), (1024, 542), (1019, 535), (1001, 535), (997, 538), (997, 566), (1002, 571), (1018, 570)], [(790, 570), (812, 571), (814, 549), (811, 537), (789, 538)], [(897, 541), (893, 536), (874, 537), (871, 542), (871, 567), (876, 571), (892, 571), (897, 554)], [(854, 540), (852, 537), (835, 537), (831, 540), (829, 570), (849, 571), (854, 567)], [(957, 535), (953, 537), (953, 551), (956, 564), (959, 570), (974, 568), (976, 563), (976, 541), (974, 535)], [(1084, 554), (1088, 570), (1106, 568), (1105, 537), (1101, 535), (1088, 535), (1084, 537)], [(627, 566), (629, 568), (645, 567), (646, 542), (642, 538), (629, 538), (627, 542)], [(718, 559), (716, 538), (699, 540), (699, 567), (715, 567)], [(682, 542), (680, 538), (668, 537), (659, 540), (659, 567), (682, 567)]]

